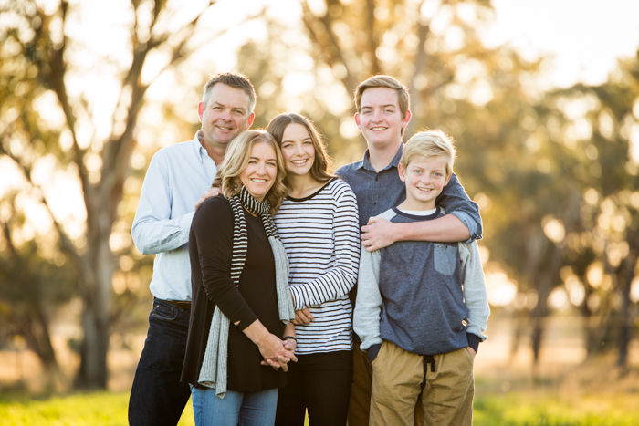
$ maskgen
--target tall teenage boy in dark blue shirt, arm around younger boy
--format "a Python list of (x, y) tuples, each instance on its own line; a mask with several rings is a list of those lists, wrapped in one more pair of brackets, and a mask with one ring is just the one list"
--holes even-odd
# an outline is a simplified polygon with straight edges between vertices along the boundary
[[(368, 150), (361, 161), (341, 167), (337, 174), (351, 185), (357, 197), (361, 239), (366, 250), (378, 250), (401, 240), (459, 242), (481, 238), (477, 203), (470, 201), (455, 173), (435, 200), (445, 208), (444, 216), (420, 223), (390, 223), (373, 217), (402, 203), (406, 197), (397, 166), (402, 157), (403, 131), (411, 119), (411, 100), (408, 89), (389, 76), (366, 79), (355, 89), (354, 98), (355, 122)], [(353, 304), (355, 294), (353, 289)], [(361, 340), (357, 335), (353, 338), (349, 425), (365, 426), (369, 424), (372, 369), (366, 353), (359, 349)]]

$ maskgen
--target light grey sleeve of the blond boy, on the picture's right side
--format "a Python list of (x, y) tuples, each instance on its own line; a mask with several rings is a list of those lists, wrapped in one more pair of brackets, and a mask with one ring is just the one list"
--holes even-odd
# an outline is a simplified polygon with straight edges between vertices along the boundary
[(488, 307), (486, 281), (479, 257), (479, 248), (476, 241), (471, 244), (459, 243), (458, 246), (462, 264), (464, 301), (468, 307), (467, 332), (484, 341), (487, 336), (482, 333), (487, 327), (490, 307)]

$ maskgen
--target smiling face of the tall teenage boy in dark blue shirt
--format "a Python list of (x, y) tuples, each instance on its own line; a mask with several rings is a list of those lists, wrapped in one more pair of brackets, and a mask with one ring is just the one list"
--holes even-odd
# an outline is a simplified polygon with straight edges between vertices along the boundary
[(360, 111), (355, 114), (357, 128), (369, 146), (382, 148), (402, 139), (402, 129), (411, 119), (399, 108), (397, 91), (393, 88), (367, 88), (361, 94)]

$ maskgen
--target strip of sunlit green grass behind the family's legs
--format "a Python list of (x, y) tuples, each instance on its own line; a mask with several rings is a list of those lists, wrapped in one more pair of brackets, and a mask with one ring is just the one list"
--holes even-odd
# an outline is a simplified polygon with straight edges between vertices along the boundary
[[(3, 426), (120, 426), (127, 424), (129, 394), (92, 392), (28, 399), (0, 395)], [(191, 405), (181, 426), (194, 425)], [(639, 426), (639, 394), (578, 395), (537, 391), (480, 394), (475, 400), (476, 426)]]

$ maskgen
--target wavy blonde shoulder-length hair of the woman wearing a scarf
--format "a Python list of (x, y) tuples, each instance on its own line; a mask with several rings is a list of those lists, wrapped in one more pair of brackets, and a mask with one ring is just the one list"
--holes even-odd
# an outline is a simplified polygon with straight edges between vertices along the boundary
[(273, 183), (273, 186), (268, 190), (267, 196), (265, 197), (265, 200), (267, 200), (271, 206), (271, 214), (275, 214), (278, 212), (279, 206), (287, 194), (287, 187), (284, 184), (287, 172), (284, 169), (284, 158), (282, 157), (282, 151), (279, 150), (278, 143), (273, 139), (270, 133), (264, 130), (246, 130), (231, 141), (226, 149), (225, 159), (217, 169), (213, 186), (220, 188), (227, 200), (230, 200), (239, 192), (240, 189), (242, 189), (240, 175), (248, 165), (253, 145), (257, 143), (267, 143), (275, 150), (278, 162), (278, 174), (275, 183)]

